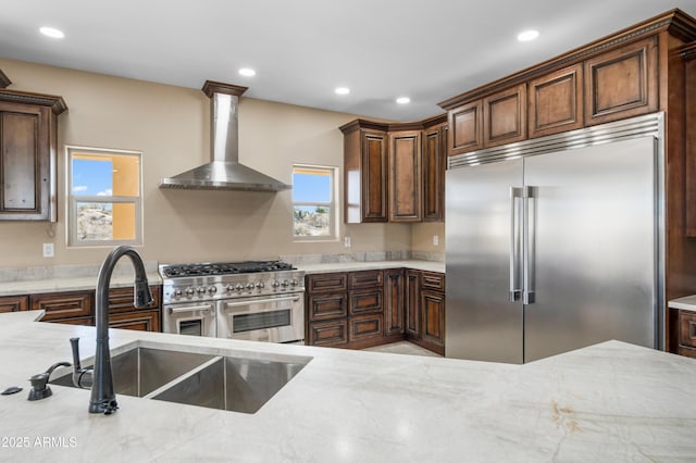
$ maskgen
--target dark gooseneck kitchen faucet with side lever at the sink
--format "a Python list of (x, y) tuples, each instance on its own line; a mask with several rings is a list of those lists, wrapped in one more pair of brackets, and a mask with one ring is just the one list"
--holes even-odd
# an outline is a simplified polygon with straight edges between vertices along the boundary
[(109, 351), (109, 284), (113, 268), (123, 255), (130, 258), (135, 267), (134, 305), (138, 309), (145, 309), (152, 302), (152, 293), (150, 292), (145, 265), (140, 255), (128, 246), (120, 246), (113, 249), (101, 264), (99, 277), (97, 278), (97, 351), (95, 353), (94, 371), (90, 372), (80, 367), (79, 338), (71, 339), (74, 365), (73, 383), (80, 388), (91, 386), (89, 413), (110, 415), (119, 408), (116, 395), (113, 391), (111, 353)]

